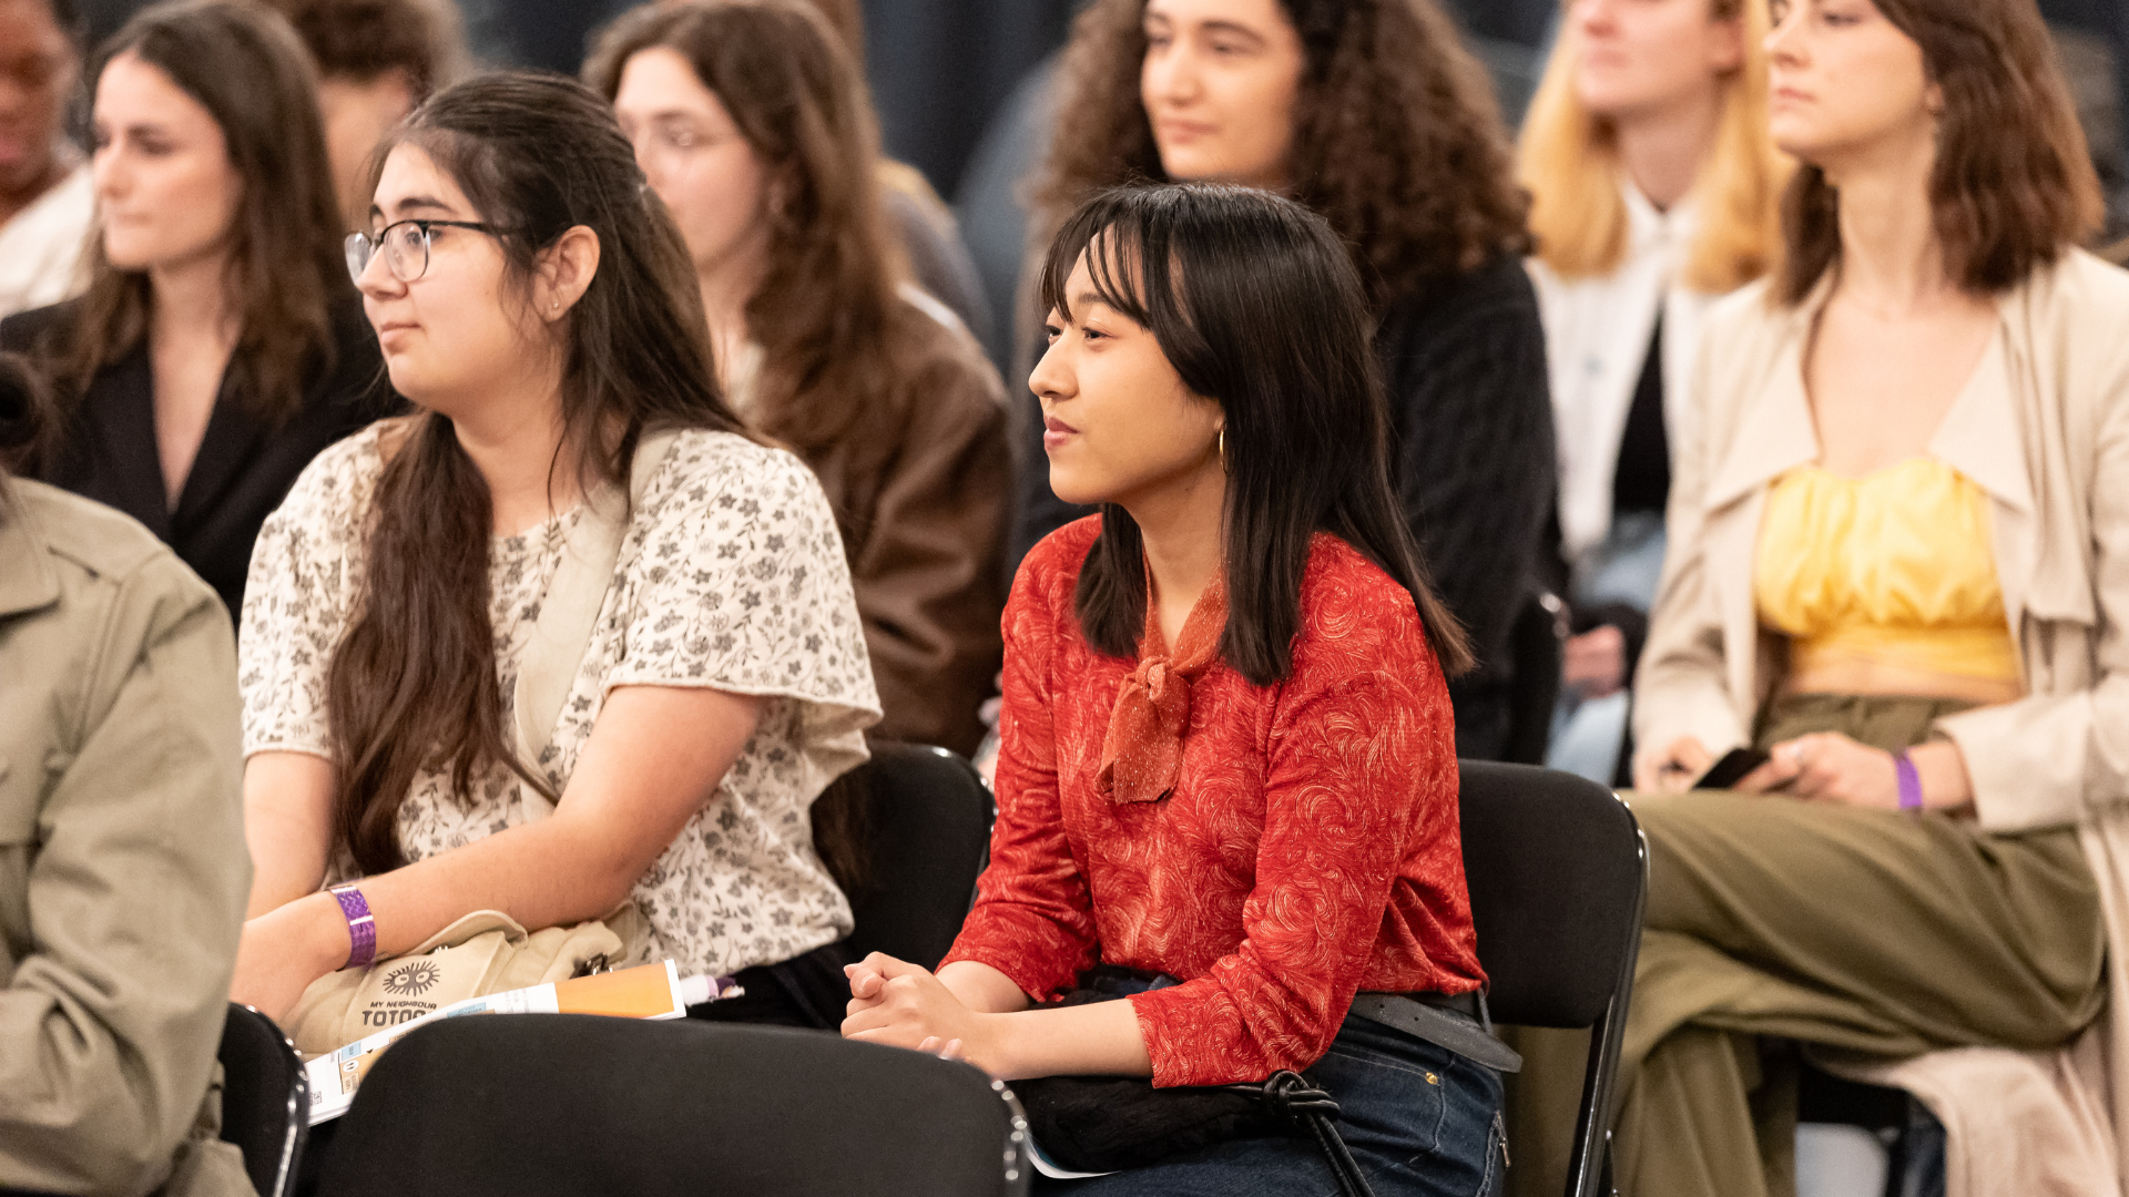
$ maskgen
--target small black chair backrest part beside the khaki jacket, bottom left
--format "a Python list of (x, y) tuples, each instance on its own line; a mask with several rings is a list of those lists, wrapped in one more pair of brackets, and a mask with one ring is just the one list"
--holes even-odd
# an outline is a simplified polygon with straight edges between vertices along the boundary
[(260, 1197), (281, 1197), (311, 1125), (311, 1086), (287, 1035), (249, 1005), (230, 1003), (221, 1022), (221, 1137), (245, 1152)]

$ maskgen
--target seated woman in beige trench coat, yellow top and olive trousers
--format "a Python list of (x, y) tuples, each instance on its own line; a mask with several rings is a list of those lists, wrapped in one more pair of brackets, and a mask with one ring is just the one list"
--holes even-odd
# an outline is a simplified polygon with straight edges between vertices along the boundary
[(1793, 1191), (1801, 1048), (1920, 1097), (1954, 1197), (2118, 1193), (2129, 275), (2074, 249), (2097, 185), (2029, 2), (1773, 15), (1803, 168), (1678, 452), (1618, 1188)]

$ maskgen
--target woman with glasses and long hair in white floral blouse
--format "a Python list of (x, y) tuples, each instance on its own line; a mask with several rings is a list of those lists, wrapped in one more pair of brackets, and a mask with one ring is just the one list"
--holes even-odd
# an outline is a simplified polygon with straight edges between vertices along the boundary
[[(362, 907), (377, 956), (475, 909), (539, 929), (624, 901), (683, 973), (841, 941), (807, 814), (879, 709), (835, 515), (720, 396), (611, 109), (532, 75), (439, 94), (387, 143), (349, 266), (419, 413), (319, 456), (260, 535), (232, 995), (281, 1016), (362, 963)], [(611, 575), (564, 569), (603, 511)], [(543, 609), (583, 577), (596, 620), (556, 673)], [(534, 660), (556, 722), (519, 686)]]

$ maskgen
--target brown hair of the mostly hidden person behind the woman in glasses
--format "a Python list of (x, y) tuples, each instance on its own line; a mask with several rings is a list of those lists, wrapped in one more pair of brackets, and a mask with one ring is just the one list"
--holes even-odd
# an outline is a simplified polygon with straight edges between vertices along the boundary
[(451, 0), (266, 0), (296, 26), (326, 79), (407, 75), (415, 102), (464, 72), (466, 47)]

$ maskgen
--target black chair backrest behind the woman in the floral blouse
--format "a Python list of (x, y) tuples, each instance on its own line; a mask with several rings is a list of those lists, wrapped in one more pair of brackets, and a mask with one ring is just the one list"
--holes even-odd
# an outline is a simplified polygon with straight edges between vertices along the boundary
[(873, 884), (852, 901), (849, 946), (939, 967), (990, 850), (990, 788), (964, 758), (918, 743), (873, 743), (864, 771)]

